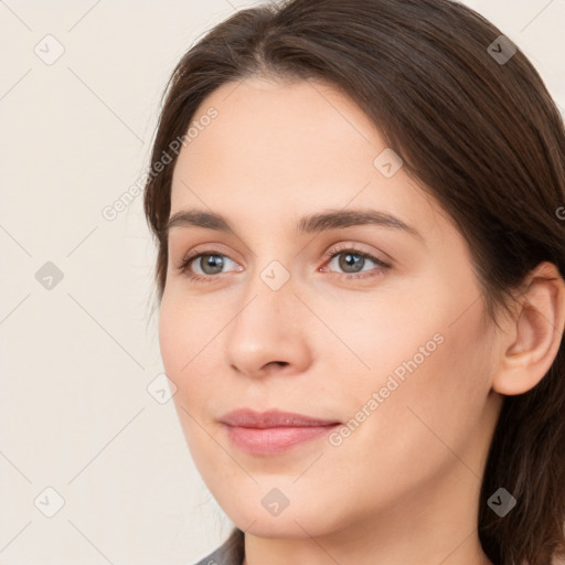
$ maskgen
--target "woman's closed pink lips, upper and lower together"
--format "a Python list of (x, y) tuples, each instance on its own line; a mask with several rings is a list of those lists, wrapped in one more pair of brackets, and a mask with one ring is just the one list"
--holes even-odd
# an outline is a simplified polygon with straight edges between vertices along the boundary
[(338, 420), (303, 414), (279, 409), (255, 412), (250, 408), (230, 412), (220, 422), (225, 425), (227, 436), (235, 447), (252, 455), (280, 454), (320, 438), (341, 425)]

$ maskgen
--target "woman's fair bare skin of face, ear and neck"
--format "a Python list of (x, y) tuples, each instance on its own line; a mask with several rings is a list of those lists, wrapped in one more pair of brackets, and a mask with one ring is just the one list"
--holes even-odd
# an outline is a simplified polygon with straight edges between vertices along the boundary
[[(254, 77), (215, 90), (195, 119), (211, 106), (218, 116), (175, 164), (171, 215), (214, 211), (236, 236), (170, 231), (159, 337), (196, 468), (246, 532), (245, 565), (490, 564), (477, 533), (488, 448), (502, 394), (533, 387), (557, 353), (563, 280), (539, 279), (556, 273), (541, 265), (501, 331), (466, 241), (403, 168), (386, 178), (374, 167), (386, 145), (351, 99), (319, 82)], [(377, 225), (292, 231), (329, 207), (390, 212), (423, 241)], [(347, 253), (324, 256), (337, 244), (391, 268), (366, 259), (362, 271), (376, 276), (351, 278)], [(223, 254), (213, 281), (177, 268), (196, 248)], [(290, 276), (278, 290), (260, 277), (274, 260)], [(193, 262), (194, 274), (214, 273), (204, 269)], [(321, 437), (255, 456), (218, 423), (239, 407), (347, 423), (438, 333), (443, 343), (340, 446)], [(289, 500), (277, 516), (262, 504), (274, 488)]]

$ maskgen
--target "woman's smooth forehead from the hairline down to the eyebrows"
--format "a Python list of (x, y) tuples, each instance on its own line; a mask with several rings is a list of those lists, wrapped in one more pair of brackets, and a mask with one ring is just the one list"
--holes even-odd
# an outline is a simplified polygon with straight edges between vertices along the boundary
[[(375, 158), (388, 150), (349, 97), (318, 82), (247, 78), (206, 97), (175, 164), (171, 215), (207, 207), (236, 223), (292, 224), (323, 207), (371, 206), (426, 231), (429, 196), (401, 168), (385, 177)], [(437, 211), (437, 210), (436, 210)]]

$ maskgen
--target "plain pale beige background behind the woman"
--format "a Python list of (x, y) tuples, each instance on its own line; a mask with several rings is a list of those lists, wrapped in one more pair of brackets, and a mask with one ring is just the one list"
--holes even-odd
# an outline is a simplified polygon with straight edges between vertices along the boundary
[[(565, 107), (565, 0), (468, 3)], [(0, 565), (192, 564), (230, 530), (147, 391), (162, 364), (142, 199), (103, 210), (147, 167), (180, 55), (252, 4), (0, 2)]]

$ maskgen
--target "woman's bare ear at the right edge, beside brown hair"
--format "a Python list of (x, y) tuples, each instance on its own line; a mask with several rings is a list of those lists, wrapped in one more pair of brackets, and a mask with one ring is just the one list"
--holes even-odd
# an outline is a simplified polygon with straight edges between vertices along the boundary
[(533, 388), (552, 366), (565, 327), (565, 281), (557, 267), (540, 263), (524, 281), (516, 316), (500, 340), (492, 388), (505, 395)]

